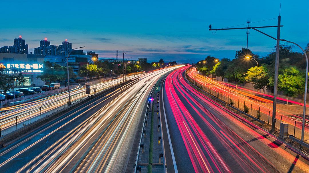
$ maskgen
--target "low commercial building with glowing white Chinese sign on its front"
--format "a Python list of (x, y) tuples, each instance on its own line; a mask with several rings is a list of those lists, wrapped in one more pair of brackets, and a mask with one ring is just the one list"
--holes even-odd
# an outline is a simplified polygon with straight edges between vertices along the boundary
[(15, 87), (35, 87), (44, 85), (40, 78), (36, 78), (43, 71), (44, 55), (0, 53), (0, 67), (6, 69), (19, 69), (26, 82), (19, 85), (14, 82)]

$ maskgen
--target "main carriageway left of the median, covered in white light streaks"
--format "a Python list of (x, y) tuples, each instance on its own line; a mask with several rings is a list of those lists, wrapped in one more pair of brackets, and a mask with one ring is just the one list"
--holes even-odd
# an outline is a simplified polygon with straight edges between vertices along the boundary
[[(149, 92), (174, 66), (96, 97), (0, 150), (6, 172), (122, 172)], [(135, 146), (138, 147), (138, 146)]]

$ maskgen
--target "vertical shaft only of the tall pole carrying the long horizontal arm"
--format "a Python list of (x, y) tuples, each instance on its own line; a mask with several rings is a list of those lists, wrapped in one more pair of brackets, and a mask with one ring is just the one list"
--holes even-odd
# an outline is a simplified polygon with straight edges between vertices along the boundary
[(280, 23), (281, 23), (281, 16), (278, 16), (276, 59), (275, 59), (275, 81), (274, 81), (274, 86), (273, 86), (273, 117), (272, 117), (272, 126), (271, 126), (272, 131), (275, 130), (275, 126), (276, 126), (277, 86), (278, 86), (279, 48), (280, 48)]

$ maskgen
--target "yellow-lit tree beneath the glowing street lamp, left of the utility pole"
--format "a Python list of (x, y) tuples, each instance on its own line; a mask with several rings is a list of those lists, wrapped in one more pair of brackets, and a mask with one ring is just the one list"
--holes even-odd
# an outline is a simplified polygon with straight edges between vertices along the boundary
[(251, 67), (247, 71), (247, 76), (245, 77), (245, 79), (247, 81), (253, 82), (255, 89), (263, 89), (263, 92), (265, 93), (265, 87), (269, 83), (268, 70), (264, 66)]

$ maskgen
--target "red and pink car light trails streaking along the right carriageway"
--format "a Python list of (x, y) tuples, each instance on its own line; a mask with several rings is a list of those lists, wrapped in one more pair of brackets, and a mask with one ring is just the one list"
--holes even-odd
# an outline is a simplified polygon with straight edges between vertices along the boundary
[[(248, 124), (244, 125), (239, 115), (190, 86), (184, 79), (187, 68), (168, 75), (164, 87), (172, 113), (167, 116), (174, 117), (195, 172), (279, 172), (273, 157), (265, 157), (264, 151), (261, 153), (261, 149), (255, 148), (257, 145), (275, 157), (284, 158), (287, 165), (293, 163), (293, 154), (282, 149), (285, 144), (269, 147), (276, 142), (275, 137), (243, 118)], [(223, 122), (222, 118), (228, 122)], [(297, 164), (299, 168), (307, 166), (303, 161)]]

